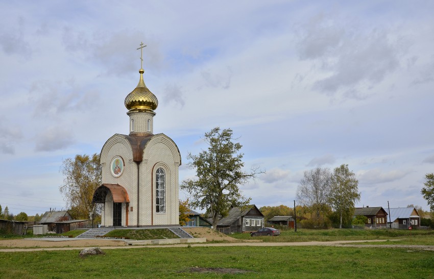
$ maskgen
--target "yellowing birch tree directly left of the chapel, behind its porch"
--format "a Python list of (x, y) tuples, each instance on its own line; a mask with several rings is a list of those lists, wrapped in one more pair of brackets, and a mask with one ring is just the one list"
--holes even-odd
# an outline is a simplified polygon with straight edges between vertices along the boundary
[(102, 168), (98, 154), (77, 155), (63, 161), (63, 185), (59, 187), (75, 218), (95, 219), (97, 207), (92, 204), (95, 190), (101, 186)]

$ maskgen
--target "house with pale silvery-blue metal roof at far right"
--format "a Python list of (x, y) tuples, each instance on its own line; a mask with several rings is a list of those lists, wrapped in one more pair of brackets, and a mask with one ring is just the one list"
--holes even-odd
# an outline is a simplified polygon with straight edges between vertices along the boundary
[(391, 208), (387, 209), (389, 214), (388, 217), (388, 227), (394, 229), (413, 229), (420, 228), (420, 215), (416, 208)]

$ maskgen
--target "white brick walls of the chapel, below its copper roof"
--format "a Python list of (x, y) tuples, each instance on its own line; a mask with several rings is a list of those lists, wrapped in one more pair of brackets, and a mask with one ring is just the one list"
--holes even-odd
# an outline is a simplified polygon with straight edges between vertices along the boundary
[[(124, 159), (122, 175), (114, 177), (110, 163), (115, 156)], [(124, 135), (111, 137), (101, 150), (103, 184), (119, 184), (128, 193), (130, 204), (128, 225), (137, 225), (137, 167), (139, 167), (139, 225), (178, 225), (179, 224), (179, 164), (180, 155), (175, 143), (158, 134), (152, 137), (143, 150), (143, 161), (139, 166), (133, 161), (131, 145)], [(165, 171), (165, 213), (157, 213), (155, 200), (155, 172), (158, 167)], [(153, 181), (152, 181), (153, 180)], [(151, 183), (153, 182), (153, 183)], [(126, 204), (122, 206), (122, 225), (126, 225)], [(113, 225), (113, 201), (107, 196), (102, 212), (102, 225)]]

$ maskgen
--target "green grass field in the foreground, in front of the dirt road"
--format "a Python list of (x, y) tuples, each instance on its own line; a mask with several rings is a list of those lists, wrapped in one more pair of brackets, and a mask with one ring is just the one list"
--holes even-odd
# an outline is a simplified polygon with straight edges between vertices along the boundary
[[(83, 259), (78, 250), (0, 252), (0, 277), (434, 277), (434, 252), (402, 248), (162, 247), (105, 252)], [(194, 268), (234, 268), (247, 273), (198, 273)]]

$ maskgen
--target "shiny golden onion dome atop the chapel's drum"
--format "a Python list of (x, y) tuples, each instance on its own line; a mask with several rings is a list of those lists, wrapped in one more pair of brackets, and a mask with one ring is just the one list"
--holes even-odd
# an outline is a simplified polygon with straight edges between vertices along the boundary
[(130, 111), (155, 110), (158, 107), (158, 99), (144, 84), (144, 70), (140, 69), (139, 73), (139, 83), (137, 84), (137, 87), (125, 98), (125, 107)]

